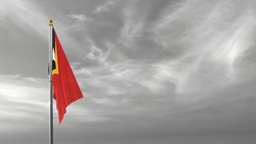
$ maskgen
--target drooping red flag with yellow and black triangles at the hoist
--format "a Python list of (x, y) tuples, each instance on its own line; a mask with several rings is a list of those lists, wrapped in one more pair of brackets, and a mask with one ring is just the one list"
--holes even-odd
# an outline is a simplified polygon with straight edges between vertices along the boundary
[(53, 28), (52, 31), (53, 42), (53, 61), (52, 61), (52, 85), (53, 96), (56, 100), (58, 110), (58, 120), (62, 123), (64, 114), (66, 114), (66, 107), (71, 102), (82, 98), (82, 92), (78, 86), (70, 64), (62, 49), (62, 45), (58, 40), (57, 34)]

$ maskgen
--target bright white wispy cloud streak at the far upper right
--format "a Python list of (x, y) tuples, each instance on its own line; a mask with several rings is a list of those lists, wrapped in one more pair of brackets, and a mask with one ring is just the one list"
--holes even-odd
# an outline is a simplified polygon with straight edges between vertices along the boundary
[(210, 57), (213, 58), (214, 61), (226, 63), (229, 68), (227, 75), (230, 77), (235, 73), (234, 62), (253, 44), (250, 37), (252, 36), (255, 23), (251, 14), (247, 13), (230, 26), (230, 30), (232, 30), (231, 34), (225, 34), (225, 41), (222, 40), (222, 42), (218, 44), (218, 48), (211, 51), (212, 54), (210, 54)]

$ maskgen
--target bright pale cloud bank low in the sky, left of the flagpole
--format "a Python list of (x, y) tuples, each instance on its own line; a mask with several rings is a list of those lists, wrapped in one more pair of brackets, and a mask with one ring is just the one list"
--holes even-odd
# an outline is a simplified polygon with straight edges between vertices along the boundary
[(6, 123), (5, 131), (13, 133), (16, 126), (31, 130), (32, 127), (27, 127), (28, 121), (43, 123), (48, 106), (47, 81), (6, 75), (1, 75), (0, 79), (0, 121)]

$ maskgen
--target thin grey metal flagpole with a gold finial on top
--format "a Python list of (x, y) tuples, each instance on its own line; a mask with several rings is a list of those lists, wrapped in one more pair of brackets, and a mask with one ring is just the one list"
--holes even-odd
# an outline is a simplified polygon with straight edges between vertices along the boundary
[(49, 129), (49, 143), (54, 143), (54, 118), (53, 118), (53, 85), (52, 85), (52, 59), (53, 59), (53, 20), (49, 19), (49, 62), (50, 62), (50, 68), (49, 68), (49, 82), (50, 82), (50, 129)]

